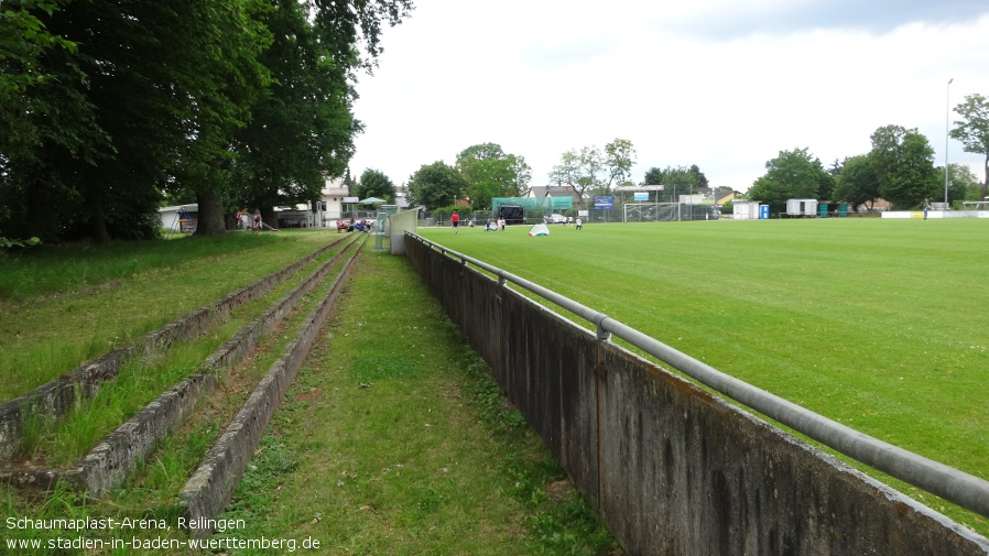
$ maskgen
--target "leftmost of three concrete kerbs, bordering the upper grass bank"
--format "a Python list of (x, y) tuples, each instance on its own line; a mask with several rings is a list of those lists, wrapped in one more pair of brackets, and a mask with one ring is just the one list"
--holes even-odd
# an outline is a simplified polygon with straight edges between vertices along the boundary
[(144, 335), (134, 344), (118, 347), (0, 405), (0, 462), (9, 460), (20, 449), (23, 441), (24, 419), (29, 416), (46, 419), (64, 417), (78, 406), (80, 401), (96, 395), (104, 381), (117, 377), (117, 372), (128, 357), (135, 352), (145, 356), (162, 352), (167, 350), (173, 341), (199, 334), (214, 319), (229, 315), (233, 308), (264, 295), (300, 268), (308, 264), (344, 239), (346, 238), (337, 239), (317, 249), (284, 269), (224, 296), (213, 305), (193, 310), (175, 321)]

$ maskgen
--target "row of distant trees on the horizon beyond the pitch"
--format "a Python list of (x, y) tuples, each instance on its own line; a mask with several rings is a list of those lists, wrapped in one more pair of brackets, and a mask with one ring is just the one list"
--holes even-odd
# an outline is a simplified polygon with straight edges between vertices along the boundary
[[(989, 152), (987, 100), (972, 95), (955, 110), (964, 120), (955, 122), (952, 137), (961, 141), (968, 152)], [(604, 148), (569, 149), (547, 174), (547, 183), (570, 188), (583, 203), (591, 195), (609, 195), (615, 186), (632, 185), (635, 157), (632, 142), (626, 139), (615, 139)], [(872, 134), (869, 153), (836, 160), (827, 168), (808, 149), (781, 151), (765, 163), (765, 168), (748, 196), (767, 203), (774, 211), (782, 210), (791, 198), (845, 201), (854, 209), (872, 208), (876, 200), (883, 198), (894, 207), (914, 208), (943, 198), (944, 193), (944, 168), (935, 167), (934, 150), (927, 139), (915, 129), (900, 126), (879, 128)], [(968, 166), (952, 164), (948, 174), (949, 201), (985, 199), (986, 184), (980, 184)], [(481, 143), (457, 154), (454, 164), (437, 161), (422, 165), (409, 177), (409, 201), (427, 210), (454, 210), (459, 200), (466, 199), (470, 208), (488, 210), (494, 197), (526, 194), (531, 178), (532, 171), (523, 156), (506, 153), (496, 143)], [(351, 193), (360, 197), (394, 200), (394, 184), (378, 170), (368, 168), (359, 182), (347, 183)], [(696, 164), (651, 167), (640, 185), (663, 185), (671, 199), (675, 192), (710, 187)]]

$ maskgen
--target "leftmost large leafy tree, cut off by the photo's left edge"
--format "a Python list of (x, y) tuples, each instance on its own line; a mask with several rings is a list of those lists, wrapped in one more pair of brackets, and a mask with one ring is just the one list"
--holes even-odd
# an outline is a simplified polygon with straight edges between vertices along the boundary
[(42, 21), (63, 3), (12, 0), (0, 9), (0, 229), (12, 236), (58, 237), (81, 201), (63, 163), (109, 150), (75, 43)]

